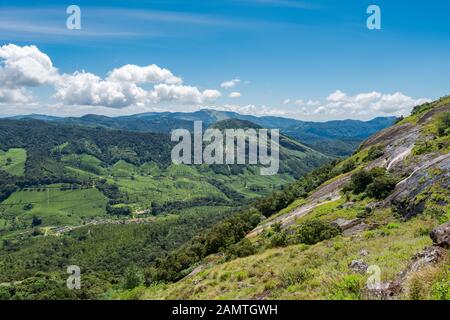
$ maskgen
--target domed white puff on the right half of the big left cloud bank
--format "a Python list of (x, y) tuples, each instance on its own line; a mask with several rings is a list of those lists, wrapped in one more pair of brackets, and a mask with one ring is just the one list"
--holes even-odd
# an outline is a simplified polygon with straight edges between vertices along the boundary
[(162, 69), (155, 64), (140, 67), (127, 64), (110, 72), (107, 80), (130, 83), (166, 83), (182, 84), (181, 78), (176, 77), (170, 70)]

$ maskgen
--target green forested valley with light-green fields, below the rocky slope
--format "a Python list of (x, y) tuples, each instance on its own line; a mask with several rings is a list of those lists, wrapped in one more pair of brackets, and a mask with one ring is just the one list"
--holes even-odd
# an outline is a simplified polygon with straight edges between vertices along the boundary
[[(279, 173), (262, 176), (259, 165), (172, 164), (173, 145), (164, 133), (0, 120), (0, 298), (99, 298), (128, 268), (332, 160), (281, 135)], [(62, 281), (72, 264), (90, 283), (76, 296)]]

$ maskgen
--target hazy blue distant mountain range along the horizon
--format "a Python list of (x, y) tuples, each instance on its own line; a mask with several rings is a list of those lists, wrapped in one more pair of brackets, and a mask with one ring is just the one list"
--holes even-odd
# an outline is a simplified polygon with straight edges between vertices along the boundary
[(395, 122), (395, 117), (379, 117), (370, 121), (311, 122), (272, 116), (256, 117), (211, 109), (195, 112), (148, 112), (120, 117), (89, 114), (82, 117), (58, 118), (32, 114), (13, 118), (154, 133), (169, 133), (173, 129), (179, 128), (192, 130), (193, 121), (202, 121), (204, 127), (208, 127), (218, 121), (240, 119), (264, 128), (280, 129), (281, 133), (293, 137), (323, 154), (334, 157), (351, 154), (364, 139)]

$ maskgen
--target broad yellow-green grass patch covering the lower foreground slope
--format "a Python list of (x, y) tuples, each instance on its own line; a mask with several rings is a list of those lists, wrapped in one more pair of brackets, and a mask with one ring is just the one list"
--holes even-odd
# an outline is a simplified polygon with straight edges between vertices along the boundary
[[(313, 246), (269, 249), (253, 256), (216, 263), (196, 276), (174, 284), (157, 284), (135, 292), (140, 299), (360, 299), (369, 275), (354, 274), (348, 264), (359, 259), (380, 267), (381, 280), (392, 280), (410, 258), (431, 244), (419, 235), (420, 218), (400, 223), (389, 234), (337, 237)], [(130, 293), (116, 293), (127, 298)]]

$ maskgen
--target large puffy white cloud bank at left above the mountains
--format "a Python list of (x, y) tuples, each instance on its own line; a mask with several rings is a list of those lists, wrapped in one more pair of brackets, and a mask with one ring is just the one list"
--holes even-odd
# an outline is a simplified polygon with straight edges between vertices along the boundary
[[(152, 84), (144, 89), (141, 84)], [(110, 71), (106, 78), (76, 71), (59, 74), (48, 55), (35, 46), (14, 44), (0, 47), (0, 103), (30, 101), (28, 87), (52, 85), (59, 103), (77, 106), (125, 108), (159, 102), (202, 104), (217, 100), (217, 90), (200, 91), (183, 85), (180, 77), (155, 64), (127, 64)]]

